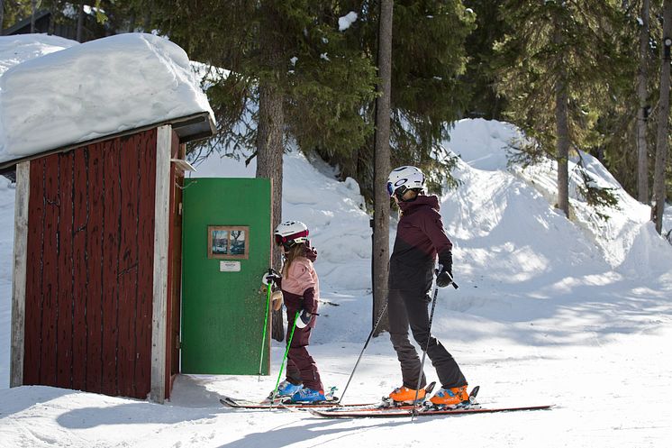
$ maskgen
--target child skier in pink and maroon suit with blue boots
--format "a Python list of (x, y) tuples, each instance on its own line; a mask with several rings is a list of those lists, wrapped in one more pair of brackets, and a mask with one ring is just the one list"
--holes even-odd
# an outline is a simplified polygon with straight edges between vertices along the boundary
[(294, 326), (292, 343), (287, 353), (286, 380), (280, 383), (277, 397), (291, 397), (291, 401), (323, 401), (324, 388), (313, 357), (306, 349), (315, 326), (320, 282), (313, 269), (317, 251), (308, 241), (308, 227), (299, 221), (279, 224), (274, 234), (278, 246), (284, 251), (281, 275), (266, 274), (265, 282), (274, 281), (282, 290), (287, 309), (287, 341)]

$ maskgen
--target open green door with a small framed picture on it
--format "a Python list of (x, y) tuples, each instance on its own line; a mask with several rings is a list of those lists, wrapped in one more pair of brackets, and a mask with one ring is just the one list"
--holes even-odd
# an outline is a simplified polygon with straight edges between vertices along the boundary
[(268, 178), (185, 179), (182, 372), (259, 373), (266, 312), (259, 287), (270, 265), (270, 210)]

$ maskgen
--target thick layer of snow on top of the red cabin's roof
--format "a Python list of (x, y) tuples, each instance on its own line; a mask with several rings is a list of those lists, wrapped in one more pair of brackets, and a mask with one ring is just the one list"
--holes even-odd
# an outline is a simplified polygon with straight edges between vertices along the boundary
[(162, 37), (119, 34), (37, 56), (0, 77), (0, 163), (195, 114), (213, 122), (186, 52)]

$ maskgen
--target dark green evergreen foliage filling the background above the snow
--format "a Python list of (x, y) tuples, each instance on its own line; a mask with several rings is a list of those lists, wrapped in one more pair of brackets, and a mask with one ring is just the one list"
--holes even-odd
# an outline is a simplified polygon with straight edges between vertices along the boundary
[[(31, 4), (5, 0), (5, 28), (30, 17)], [(650, 4), (646, 61), (651, 157), (658, 118), (661, 4)], [(78, 5), (40, 2), (57, 22), (72, 21), (68, 11)], [(356, 178), (370, 201), (376, 0), (91, 0), (85, 5), (97, 11), (97, 32), (156, 31), (202, 63), (199, 75), (219, 133), (190, 150), (205, 155), (217, 148), (228, 151), (222, 155), (253, 157), (259, 86), (266, 83), (283, 98), (286, 142), (319, 153), (340, 169), (342, 178)], [(446, 180), (455, 187), (450, 169), (456, 160), (440, 142), (450, 123), (466, 116), (521, 127), (528, 142), (534, 142), (522, 148), (525, 153), (516, 152), (523, 163), (556, 157), (554, 87), (558, 73), (564, 73), (570, 148), (595, 155), (636, 196), (632, 167), (637, 161), (640, 7), (640, 0), (395, 1), (393, 166), (423, 169), (431, 191), (439, 191)], [(341, 27), (346, 16), (350, 21)], [(264, 43), (268, 41), (270, 45)], [(669, 197), (672, 166), (667, 165)], [(649, 170), (652, 176), (653, 163)], [(589, 186), (586, 179), (581, 187), (586, 194), (592, 191)], [(608, 206), (610, 201), (600, 193), (595, 204)]]

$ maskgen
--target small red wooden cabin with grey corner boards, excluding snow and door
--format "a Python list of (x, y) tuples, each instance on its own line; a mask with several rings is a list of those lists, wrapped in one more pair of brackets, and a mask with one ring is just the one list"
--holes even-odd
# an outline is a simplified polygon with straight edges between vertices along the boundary
[(181, 178), (208, 113), (14, 160), (11, 386), (162, 402), (179, 370)]

